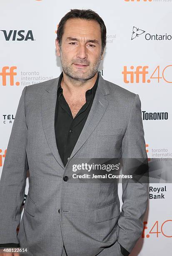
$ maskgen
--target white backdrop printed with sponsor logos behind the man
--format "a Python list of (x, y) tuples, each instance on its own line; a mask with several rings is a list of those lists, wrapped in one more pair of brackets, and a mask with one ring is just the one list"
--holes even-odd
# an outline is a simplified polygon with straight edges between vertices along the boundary
[[(1, 0), (0, 7), (0, 175), (23, 88), (62, 72), (56, 32), (74, 8), (92, 9), (104, 20), (107, 46), (99, 71), (139, 94), (147, 155), (172, 161), (172, 0)], [(26, 195), (28, 187), (27, 178)], [(171, 255), (171, 195), (170, 182), (150, 183), (144, 229), (132, 256)]]

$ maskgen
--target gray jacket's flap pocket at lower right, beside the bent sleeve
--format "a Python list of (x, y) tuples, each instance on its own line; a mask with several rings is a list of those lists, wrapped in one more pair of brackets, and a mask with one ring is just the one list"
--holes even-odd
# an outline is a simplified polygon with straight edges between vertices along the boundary
[(116, 202), (104, 207), (96, 208), (95, 212), (95, 222), (102, 222), (105, 220), (113, 219), (120, 215), (120, 208), (118, 208)]

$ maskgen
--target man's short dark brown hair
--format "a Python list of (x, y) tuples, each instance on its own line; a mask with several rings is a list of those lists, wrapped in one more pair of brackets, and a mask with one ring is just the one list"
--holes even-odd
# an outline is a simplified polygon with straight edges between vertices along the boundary
[(66, 13), (65, 16), (60, 20), (60, 23), (57, 28), (57, 40), (61, 46), (62, 35), (64, 33), (64, 26), (67, 20), (72, 18), (80, 18), (83, 20), (96, 20), (100, 24), (101, 28), (101, 39), (102, 39), (102, 52), (106, 46), (106, 26), (102, 18), (93, 10), (79, 10), (79, 9), (70, 9), (70, 12)]

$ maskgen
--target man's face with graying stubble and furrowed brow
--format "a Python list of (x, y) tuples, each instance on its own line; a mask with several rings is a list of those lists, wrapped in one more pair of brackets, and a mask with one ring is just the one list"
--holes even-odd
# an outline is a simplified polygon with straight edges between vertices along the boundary
[(85, 81), (95, 76), (103, 54), (100, 24), (95, 20), (72, 18), (66, 21), (61, 47), (56, 40), (63, 72)]

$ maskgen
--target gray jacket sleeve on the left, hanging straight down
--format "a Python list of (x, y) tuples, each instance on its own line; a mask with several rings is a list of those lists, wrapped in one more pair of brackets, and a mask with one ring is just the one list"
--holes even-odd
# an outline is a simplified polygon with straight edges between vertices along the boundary
[(0, 247), (5, 247), (5, 244), (9, 247), (19, 247), (16, 229), (20, 224), (28, 169), (25, 121), (26, 88), (22, 90), (17, 107), (0, 179)]

